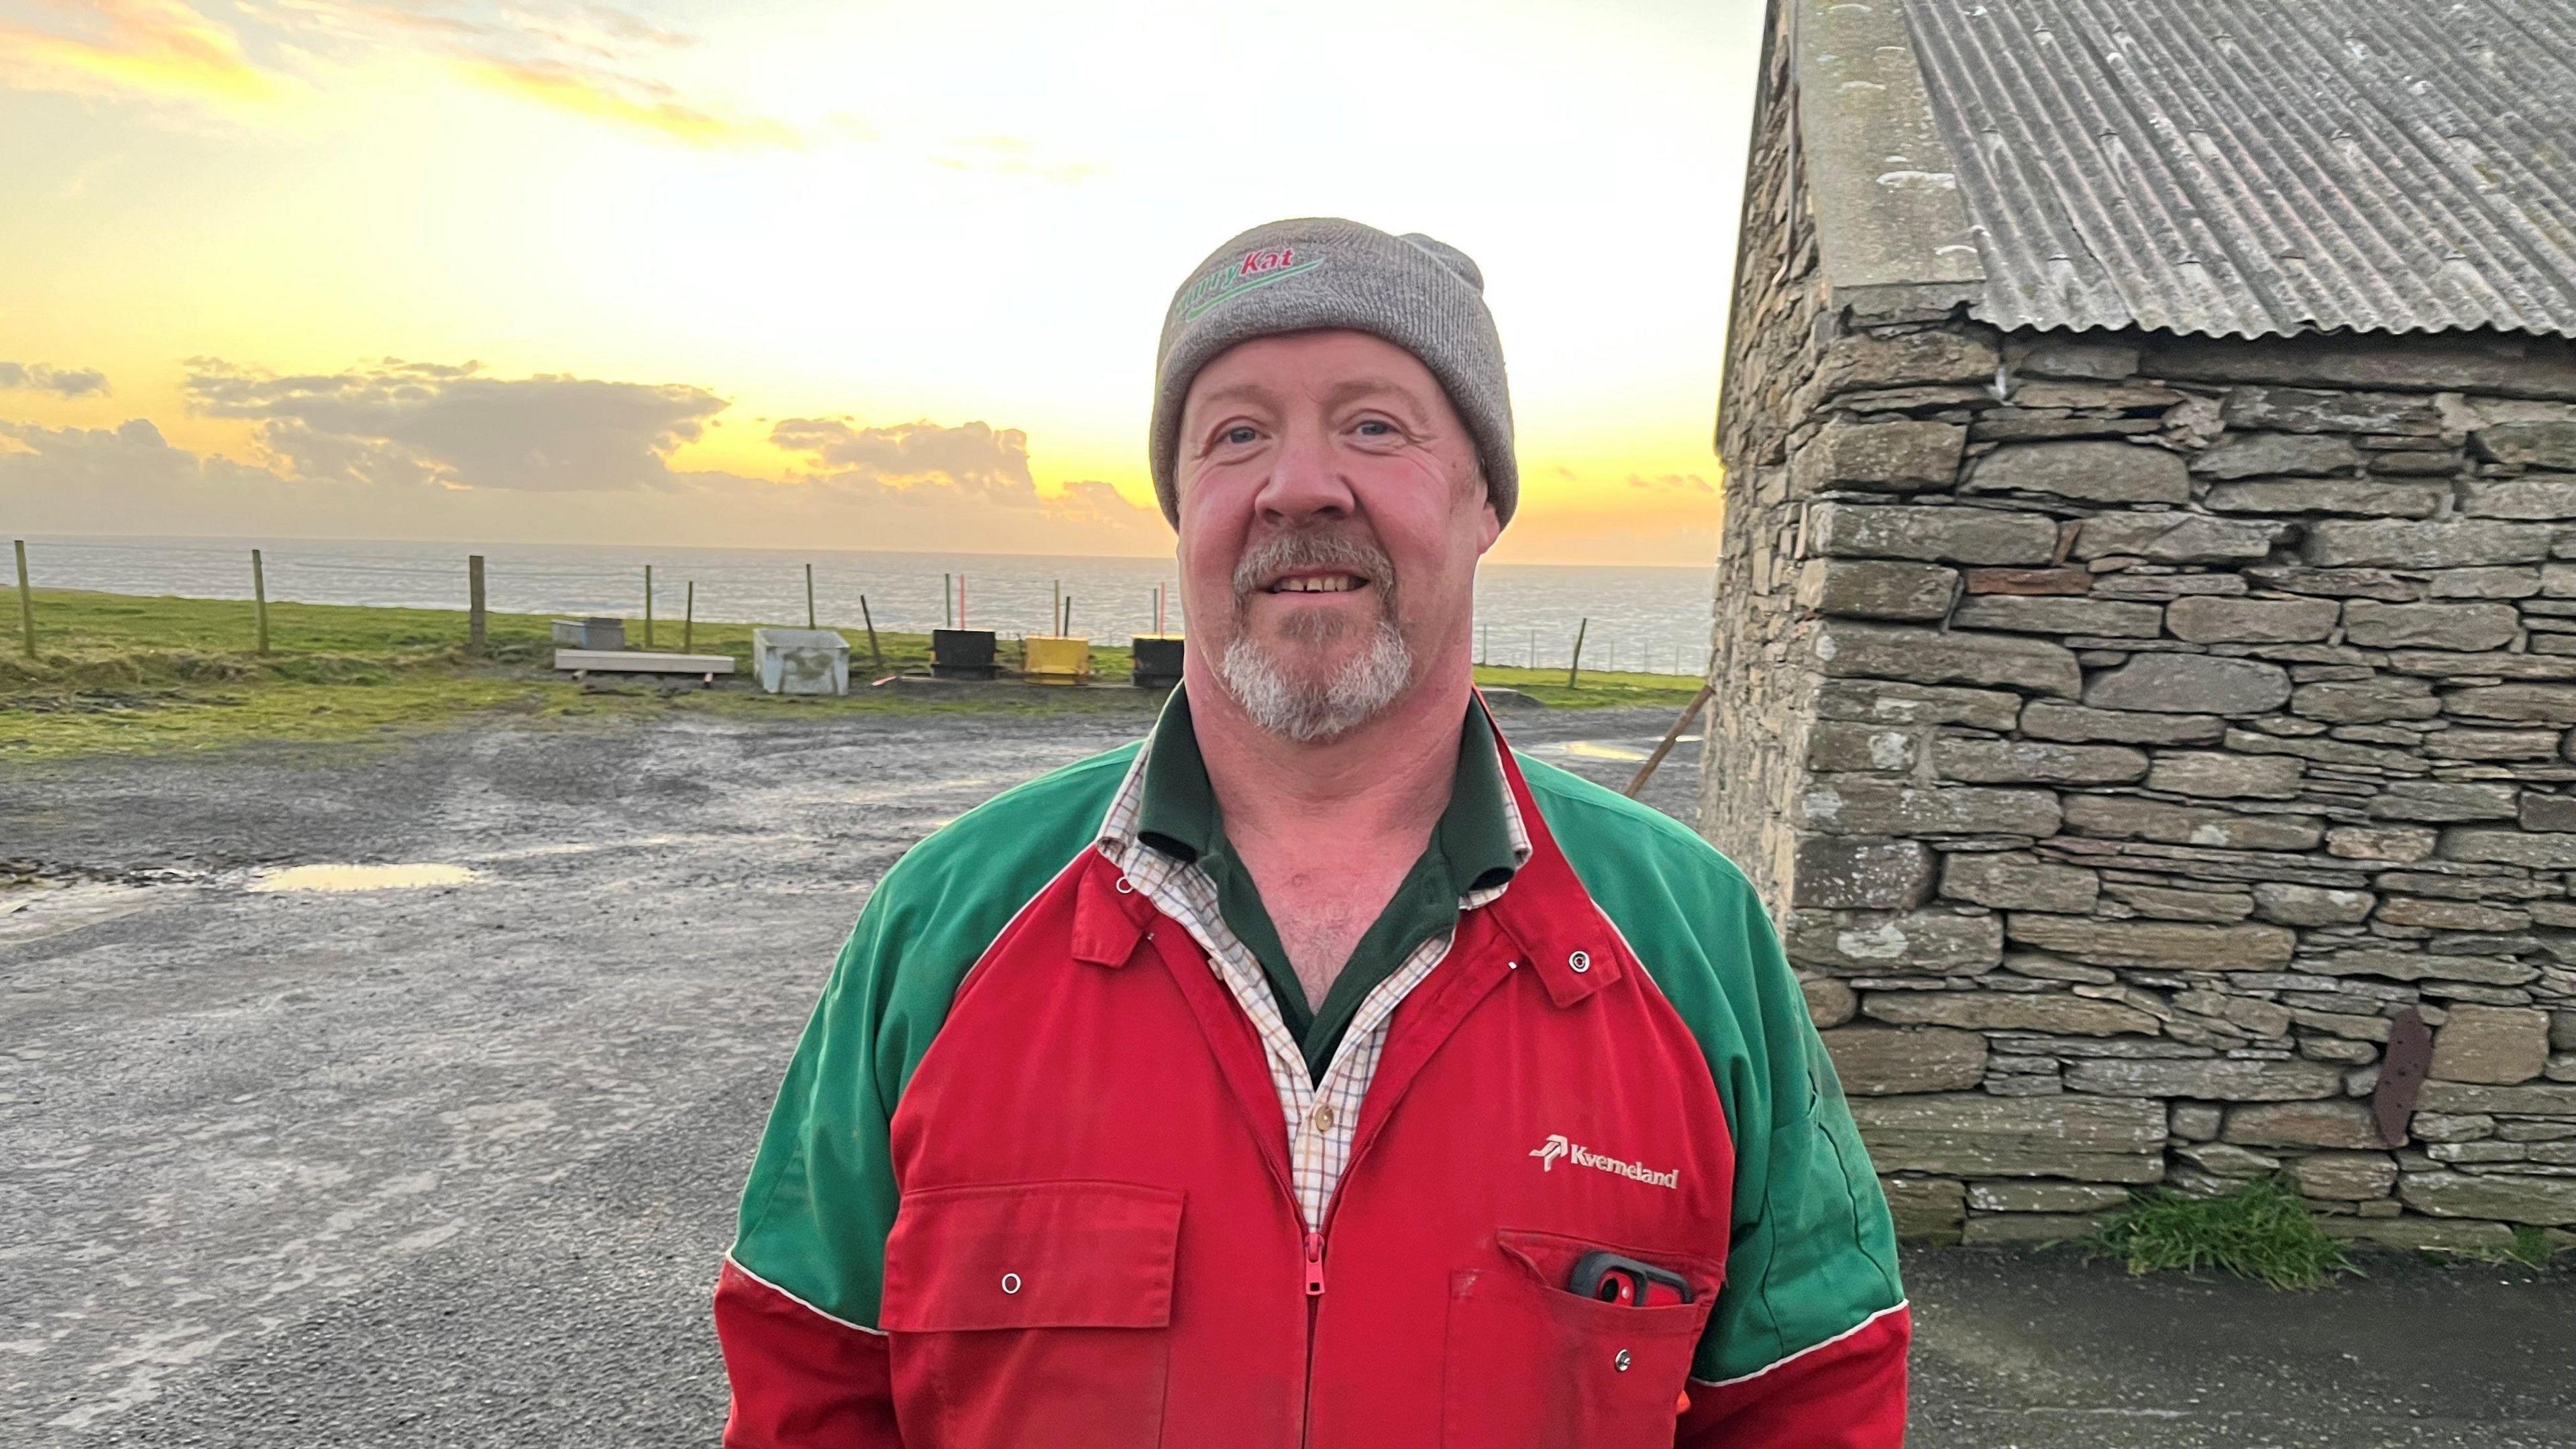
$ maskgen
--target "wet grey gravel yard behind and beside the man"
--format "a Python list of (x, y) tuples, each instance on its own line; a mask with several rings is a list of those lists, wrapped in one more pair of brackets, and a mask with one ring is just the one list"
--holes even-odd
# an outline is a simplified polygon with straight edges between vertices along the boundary
[[(0, 856), (90, 877), (0, 902), (0, 1444), (714, 1444), (716, 1256), (868, 884), (1144, 722), (513, 724), (0, 781)], [(1618, 784), (1667, 722), (1507, 730)], [(1649, 799), (1687, 812), (1695, 755)], [(304, 864), (477, 879), (252, 890)], [(2563, 1274), (1909, 1276), (1917, 1446), (2576, 1444)]]

